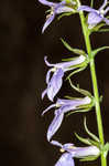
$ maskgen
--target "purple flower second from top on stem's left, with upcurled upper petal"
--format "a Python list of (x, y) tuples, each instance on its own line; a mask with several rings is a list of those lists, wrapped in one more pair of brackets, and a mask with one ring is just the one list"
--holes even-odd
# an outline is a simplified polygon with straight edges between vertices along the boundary
[[(47, 89), (42, 93), (42, 98), (45, 96), (45, 94), (47, 94), (50, 101), (53, 101), (54, 96), (58, 93), (59, 89), (62, 87), (64, 73), (66, 71), (76, 69), (76, 65), (85, 62), (86, 58), (84, 55), (80, 55), (78, 58), (75, 58), (73, 61), (56, 64), (48, 63), (46, 59), (47, 58), (45, 56), (44, 61), (47, 66), (51, 66), (51, 69), (46, 74)], [(53, 75), (51, 77), (52, 72)]]

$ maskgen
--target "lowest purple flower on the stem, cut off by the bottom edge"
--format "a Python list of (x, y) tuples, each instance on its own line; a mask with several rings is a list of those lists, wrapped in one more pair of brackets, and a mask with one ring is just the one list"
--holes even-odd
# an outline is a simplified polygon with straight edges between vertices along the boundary
[(57, 160), (55, 166), (75, 166), (74, 157), (85, 158), (88, 156), (99, 156), (100, 151), (97, 146), (75, 147), (74, 144), (67, 143), (62, 145), (57, 141), (52, 141), (51, 144), (61, 147), (61, 152), (64, 153)]

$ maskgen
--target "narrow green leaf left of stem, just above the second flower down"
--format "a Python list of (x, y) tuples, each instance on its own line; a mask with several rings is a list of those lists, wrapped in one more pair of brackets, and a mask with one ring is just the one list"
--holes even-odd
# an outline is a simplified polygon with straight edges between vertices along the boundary
[(79, 54), (79, 55), (86, 55), (85, 51), (80, 50), (80, 49), (73, 49), (66, 41), (64, 41), (63, 39), (61, 39), (63, 44), (65, 45), (66, 49), (68, 49), (69, 51), (74, 52), (75, 54)]

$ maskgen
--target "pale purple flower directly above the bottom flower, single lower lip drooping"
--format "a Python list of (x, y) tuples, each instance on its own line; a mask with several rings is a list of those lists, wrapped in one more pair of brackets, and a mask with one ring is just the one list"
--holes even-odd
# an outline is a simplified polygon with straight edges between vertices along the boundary
[(58, 107), (57, 110), (55, 110), (54, 112), (54, 118), (52, 121), (52, 123), (48, 126), (47, 129), (47, 141), (50, 142), (50, 139), (52, 138), (52, 136), (57, 132), (57, 129), (59, 128), (63, 118), (64, 118), (64, 114), (69, 112), (69, 111), (74, 111), (74, 110), (79, 110), (80, 106), (84, 107), (84, 105), (86, 106), (87, 104), (91, 103), (91, 98), (89, 96), (86, 96), (84, 98), (75, 98), (75, 100), (61, 100), (58, 98), (56, 104), (52, 104), (51, 106), (48, 106), (43, 113), (45, 114), (48, 110), (53, 108), (53, 107)]

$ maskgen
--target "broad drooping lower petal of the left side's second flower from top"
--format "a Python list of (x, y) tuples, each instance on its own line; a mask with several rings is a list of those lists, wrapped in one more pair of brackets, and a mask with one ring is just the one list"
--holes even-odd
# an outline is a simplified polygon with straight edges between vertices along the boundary
[(62, 79), (64, 76), (64, 72), (62, 69), (58, 69), (52, 76), (48, 85), (47, 85), (47, 96), (50, 101), (53, 101), (54, 96), (57, 94), (62, 86)]

